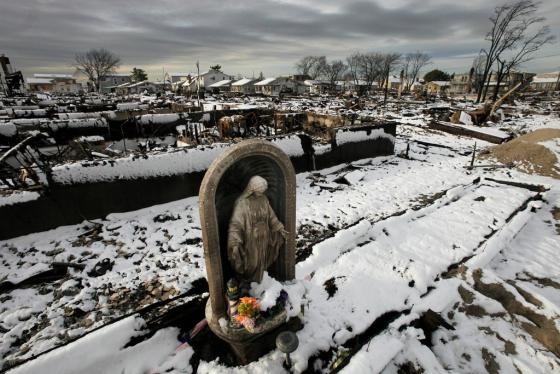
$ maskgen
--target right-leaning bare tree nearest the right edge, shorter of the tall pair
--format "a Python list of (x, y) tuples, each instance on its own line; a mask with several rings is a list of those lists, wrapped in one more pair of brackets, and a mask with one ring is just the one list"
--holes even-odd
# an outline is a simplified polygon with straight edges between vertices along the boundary
[[(544, 19), (534, 18), (529, 21), (533, 20), (536, 20), (536, 22), (542, 22)], [(534, 34), (524, 36), (519, 39), (517, 44), (513, 48), (513, 53), (509, 56), (509, 58), (504, 57), (502, 59), (502, 56), (498, 56), (496, 58), (496, 87), (494, 89), (492, 100), (496, 101), (498, 99), (500, 84), (513, 69), (525, 62), (530, 61), (534, 57), (534, 53), (536, 51), (538, 51), (543, 45), (554, 42), (554, 39), (554, 35), (550, 34), (550, 28), (548, 26), (542, 26)]]

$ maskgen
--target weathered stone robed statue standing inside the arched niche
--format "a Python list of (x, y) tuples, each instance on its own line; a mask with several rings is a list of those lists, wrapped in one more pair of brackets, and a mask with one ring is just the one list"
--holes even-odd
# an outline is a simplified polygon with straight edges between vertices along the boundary
[(265, 195), (266, 179), (254, 176), (237, 198), (228, 229), (228, 259), (241, 282), (260, 282), (278, 257), (287, 232)]

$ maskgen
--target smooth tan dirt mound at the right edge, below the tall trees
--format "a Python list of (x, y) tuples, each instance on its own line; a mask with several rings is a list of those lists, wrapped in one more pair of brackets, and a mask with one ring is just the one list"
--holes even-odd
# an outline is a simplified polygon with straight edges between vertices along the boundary
[(480, 158), (496, 158), (503, 164), (514, 164), (530, 174), (560, 179), (556, 155), (539, 142), (560, 138), (560, 129), (539, 129), (501, 144), (481, 154)]

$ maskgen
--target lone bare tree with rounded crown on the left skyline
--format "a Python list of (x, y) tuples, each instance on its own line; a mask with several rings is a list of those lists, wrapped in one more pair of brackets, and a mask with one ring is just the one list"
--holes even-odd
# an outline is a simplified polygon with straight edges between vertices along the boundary
[(114, 72), (120, 66), (121, 60), (112, 52), (104, 48), (90, 49), (86, 53), (79, 53), (75, 57), (74, 66), (85, 74), (95, 84), (99, 91), (99, 82), (107, 74)]

